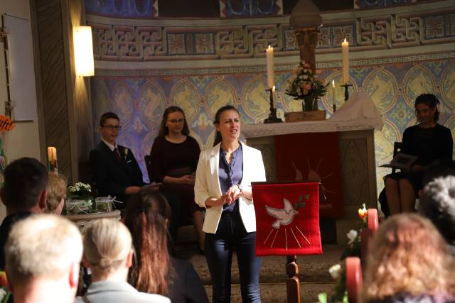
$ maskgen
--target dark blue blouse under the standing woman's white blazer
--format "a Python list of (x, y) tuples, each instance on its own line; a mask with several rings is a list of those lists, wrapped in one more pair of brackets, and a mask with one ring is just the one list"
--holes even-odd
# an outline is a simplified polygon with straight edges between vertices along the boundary
[[(234, 152), (232, 153), (232, 159), (228, 163), (226, 160), (226, 152), (223, 148), (220, 147), (220, 161), (218, 165), (218, 177), (220, 180), (220, 187), (221, 192), (224, 194), (228, 192), (228, 189), (235, 184), (240, 184), (242, 182), (243, 177), (243, 153), (242, 153), (242, 145), (239, 146)], [(228, 205), (223, 205), (223, 211), (232, 212), (238, 211), (237, 206), (238, 199)]]

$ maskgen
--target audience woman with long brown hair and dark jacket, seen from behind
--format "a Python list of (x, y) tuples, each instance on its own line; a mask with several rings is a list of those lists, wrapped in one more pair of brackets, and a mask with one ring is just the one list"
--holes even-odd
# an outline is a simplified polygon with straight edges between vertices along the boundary
[(128, 282), (139, 292), (162, 294), (173, 303), (208, 303), (193, 265), (169, 256), (170, 218), (166, 199), (153, 189), (143, 188), (129, 200), (124, 223), (132, 233), (136, 258)]

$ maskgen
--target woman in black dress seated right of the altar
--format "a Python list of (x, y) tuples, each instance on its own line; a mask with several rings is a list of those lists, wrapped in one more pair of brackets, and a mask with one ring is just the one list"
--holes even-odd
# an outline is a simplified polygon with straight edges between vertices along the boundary
[(454, 141), (449, 128), (437, 123), (439, 100), (434, 94), (421, 94), (415, 100), (415, 113), (419, 124), (403, 133), (401, 153), (417, 156), (410, 170), (385, 176), (385, 194), (390, 214), (412, 211), (422, 175), (427, 166), (439, 159), (451, 159)]

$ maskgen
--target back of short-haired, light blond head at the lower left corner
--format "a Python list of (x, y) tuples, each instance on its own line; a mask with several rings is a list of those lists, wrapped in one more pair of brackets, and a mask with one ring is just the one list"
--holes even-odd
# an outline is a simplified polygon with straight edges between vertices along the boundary
[(36, 214), (11, 228), (6, 275), (16, 303), (73, 303), (82, 237), (62, 216)]

